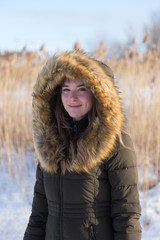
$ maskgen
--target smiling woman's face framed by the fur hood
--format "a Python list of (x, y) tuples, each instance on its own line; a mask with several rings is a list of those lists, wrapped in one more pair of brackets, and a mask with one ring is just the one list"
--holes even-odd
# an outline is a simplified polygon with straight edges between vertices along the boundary
[(62, 85), (61, 99), (65, 110), (74, 120), (81, 120), (91, 110), (92, 93), (82, 80), (66, 79)]

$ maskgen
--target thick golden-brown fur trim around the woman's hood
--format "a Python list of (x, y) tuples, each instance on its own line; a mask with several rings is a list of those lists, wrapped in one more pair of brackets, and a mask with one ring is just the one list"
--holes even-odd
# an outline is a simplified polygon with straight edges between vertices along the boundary
[[(58, 169), (55, 152), (60, 144), (56, 135), (50, 142), (46, 140), (46, 133), (55, 117), (51, 114), (50, 100), (64, 78), (81, 79), (101, 106), (103, 124), (96, 117), (91, 131), (79, 140), (85, 150), (85, 164), (77, 149), (75, 160), (66, 165), (70, 172), (89, 171), (109, 157), (115, 148), (117, 135), (122, 131), (124, 117), (114, 75), (107, 65), (78, 51), (55, 54), (44, 66), (33, 91), (33, 140), (42, 168), (50, 173)], [(57, 128), (57, 125), (53, 127)], [(65, 165), (66, 159), (63, 161)]]

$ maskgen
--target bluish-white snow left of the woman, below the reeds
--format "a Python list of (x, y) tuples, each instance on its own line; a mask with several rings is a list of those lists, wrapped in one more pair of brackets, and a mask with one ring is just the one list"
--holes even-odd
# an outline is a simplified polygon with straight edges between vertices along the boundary
[[(34, 155), (27, 155), (28, 171), (11, 176), (7, 168), (0, 172), (0, 240), (22, 240), (31, 213), (35, 182)], [(23, 159), (24, 160), (24, 159)]]

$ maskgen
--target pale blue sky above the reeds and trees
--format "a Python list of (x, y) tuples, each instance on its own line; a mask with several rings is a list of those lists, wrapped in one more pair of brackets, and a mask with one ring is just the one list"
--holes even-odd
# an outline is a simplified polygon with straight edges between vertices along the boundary
[(91, 51), (100, 41), (142, 39), (157, 12), (159, 0), (0, 0), (0, 52), (44, 44), (53, 53), (72, 50), (77, 41)]

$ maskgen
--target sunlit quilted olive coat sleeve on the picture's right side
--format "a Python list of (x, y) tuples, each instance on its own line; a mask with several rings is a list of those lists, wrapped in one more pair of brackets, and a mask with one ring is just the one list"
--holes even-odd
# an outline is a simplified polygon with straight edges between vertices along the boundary
[(115, 240), (140, 240), (141, 207), (138, 192), (138, 172), (132, 141), (122, 136), (116, 154), (108, 161), (111, 184), (111, 217)]

